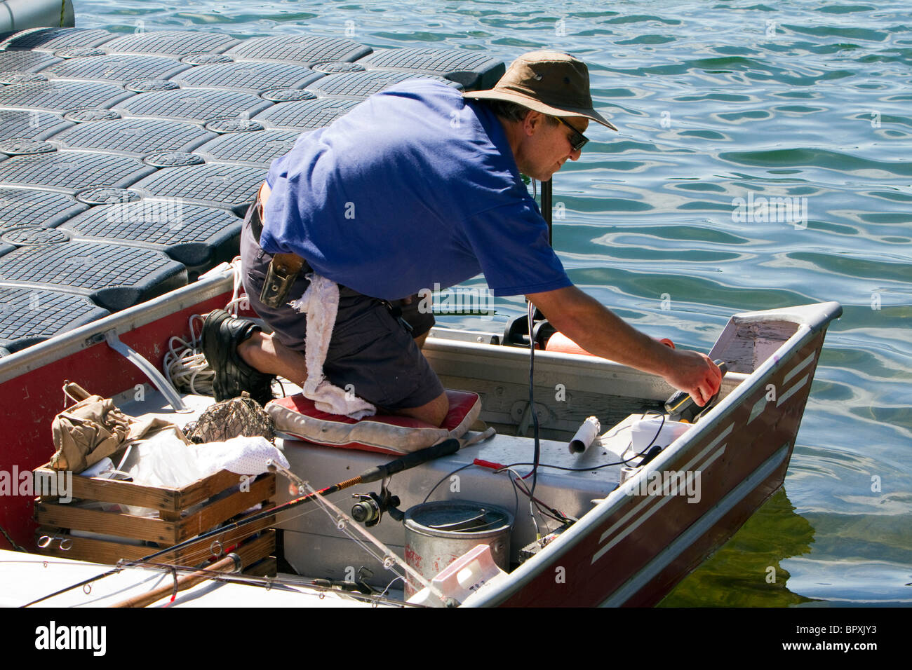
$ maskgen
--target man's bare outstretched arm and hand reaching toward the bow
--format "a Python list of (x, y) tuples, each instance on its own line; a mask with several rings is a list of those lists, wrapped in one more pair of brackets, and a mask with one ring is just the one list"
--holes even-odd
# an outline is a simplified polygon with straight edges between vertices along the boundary
[(659, 343), (575, 286), (526, 297), (551, 325), (591, 354), (662, 376), (701, 407), (719, 390), (721, 372), (709, 356)]

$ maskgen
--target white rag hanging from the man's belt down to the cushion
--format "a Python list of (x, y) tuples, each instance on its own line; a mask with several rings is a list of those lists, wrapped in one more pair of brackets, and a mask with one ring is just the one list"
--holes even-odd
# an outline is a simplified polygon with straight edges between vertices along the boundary
[(377, 414), (377, 407), (354, 393), (348, 393), (335, 386), (323, 374), (326, 351), (329, 349), (329, 340), (336, 324), (339, 287), (336, 282), (317, 273), (309, 273), (306, 276), (310, 280), (310, 285), (301, 298), (290, 303), (301, 314), (307, 314), (307, 380), (304, 383), (304, 397), (313, 400), (321, 412), (357, 419), (372, 417)]

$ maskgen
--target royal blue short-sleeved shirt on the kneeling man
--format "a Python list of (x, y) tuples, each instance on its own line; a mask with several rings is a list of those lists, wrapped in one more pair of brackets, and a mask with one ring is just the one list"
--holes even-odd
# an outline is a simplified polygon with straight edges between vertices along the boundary
[(260, 243), (358, 293), (395, 300), (483, 272), (494, 295), (571, 284), (500, 121), (411, 80), (307, 132), (273, 162)]

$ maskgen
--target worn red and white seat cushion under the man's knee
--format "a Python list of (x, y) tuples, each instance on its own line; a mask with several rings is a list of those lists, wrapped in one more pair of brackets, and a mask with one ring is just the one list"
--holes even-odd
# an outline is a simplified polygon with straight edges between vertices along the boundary
[(460, 438), (482, 410), (477, 393), (447, 390), (450, 411), (440, 428), (417, 418), (378, 414), (360, 420), (321, 412), (314, 401), (302, 396), (282, 397), (266, 404), (275, 429), (295, 438), (326, 447), (408, 454), (437, 444), (441, 439)]

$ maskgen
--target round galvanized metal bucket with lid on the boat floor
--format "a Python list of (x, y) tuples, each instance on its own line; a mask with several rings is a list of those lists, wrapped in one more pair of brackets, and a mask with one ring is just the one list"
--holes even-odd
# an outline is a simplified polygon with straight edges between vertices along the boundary
[[(510, 569), (513, 514), (507, 510), (471, 500), (441, 500), (410, 508), (403, 523), (405, 560), (429, 581), (479, 544), (491, 547), (500, 568)], [(406, 584), (406, 598), (414, 593)]]

